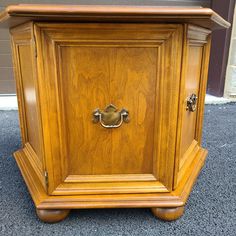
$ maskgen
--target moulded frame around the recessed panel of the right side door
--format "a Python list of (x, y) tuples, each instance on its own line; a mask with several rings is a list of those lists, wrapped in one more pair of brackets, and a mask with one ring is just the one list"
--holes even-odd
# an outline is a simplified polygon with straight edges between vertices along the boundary
[[(185, 24), (184, 26), (184, 46), (183, 46), (183, 62), (182, 62), (182, 75), (181, 75), (181, 85), (180, 85), (180, 99), (179, 99), (179, 115), (178, 115), (178, 129), (177, 129), (177, 143), (176, 143), (176, 159), (175, 159), (175, 174), (174, 174), (174, 184), (173, 189), (176, 189), (183, 177), (189, 171), (191, 164), (196, 159), (199, 150), (201, 150), (201, 140), (202, 140), (202, 126), (204, 117), (204, 102), (205, 102), (205, 92), (207, 85), (208, 76), (208, 63), (211, 47), (211, 30), (198, 27), (191, 24)], [(182, 144), (182, 132), (183, 132), (183, 117), (186, 111), (186, 94), (185, 84), (187, 78), (187, 67), (189, 63), (189, 51), (190, 48), (201, 49), (201, 65), (199, 71), (199, 83), (198, 83), (198, 101), (197, 109), (195, 111), (196, 116), (194, 123), (194, 139), (187, 148), (187, 150), (181, 155), (181, 144)], [(193, 115), (193, 114), (190, 114)]]

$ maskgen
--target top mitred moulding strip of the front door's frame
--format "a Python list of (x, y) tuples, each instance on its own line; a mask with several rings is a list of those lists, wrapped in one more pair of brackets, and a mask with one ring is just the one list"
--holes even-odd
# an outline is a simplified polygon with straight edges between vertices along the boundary
[[(111, 42), (119, 42), (119, 41), (143, 41), (143, 42), (147, 42), (150, 44), (150, 42), (160, 42), (163, 43), (165, 40), (169, 39), (171, 37), (171, 35), (180, 27), (180, 25), (182, 26), (183, 24), (178, 23), (178, 24), (173, 24), (173, 23), (159, 23), (159, 24), (155, 24), (155, 23), (148, 23), (143, 25), (142, 23), (116, 23), (116, 27), (114, 27), (114, 23), (101, 23), (101, 22), (94, 22), (94, 23), (83, 23), (83, 24), (74, 24), (71, 22), (64, 22), (64, 23), (58, 23), (58, 22), (38, 22), (35, 21), (33, 22), (34, 27), (36, 28), (36, 30), (41, 31), (41, 33), (44, 35), (44, 37), (48, 37), (49, 40), (51, 41), (57, 41), (60, 43), (63, 43), (63, 41), (65, 41), (66, 43), (68, 42), (77, 42), (77, 41), (81, 41), (81, 42), (93, 42), (93, 41), (100, 41), (100, 42), (105, 42), (107, 43), (109, 40), (111, 40)], [(145, 26), (145, 27), (144, 27)], [(142, 32), (146, 32), (146, 31), (152, 31), (155, 34), (155, 38), (142, 38), (142, 35), (140, 36), (140, 31), (137, 30), (137, 28), (141, 28)], [(201, 28), (201, 27), (200, 27)], [(80, 33), (81, 35), (83, 33), (87, 34), (88, 31), (92, 32), (92, 33), (97, 33), (97, 30), (99, 29), (99, 33), (102, 34), (102, 32), (107, 32), (107, 30), (112, 31), (113, 33), (113, 37), (106, 38), (104, 39), (104, 37), (102, 38), (80, 38), (80, 40), (78, 39), (78, 36), (76, 34), (71, 34), (70, 35), (70, 39), (65, 40), (65, 38), (63, 36), (61, 36), (60, 31), (58, 31), (58, 29), (63, 30), (63, 33), (71, 33), (71, 31), (73, 30), (74, 32)], [(94, 32), (94, 30), (96, 32)], [(129, 36), (131, 36), (130, 38), (126, 37), (121, 37), (120, 32), (124, 31), (124, 30), (129, 30)], [(158, 34), (155, 32), (156, 30), (158, 30)], [(115, 37), (114, 37), (115, 36)], [(116, 37), (119, 37), (119, 39), (116, 39)], [(134, 40), (135, 37), (135, 40)], [(141, 37), (141, 38), (140, 38)]]

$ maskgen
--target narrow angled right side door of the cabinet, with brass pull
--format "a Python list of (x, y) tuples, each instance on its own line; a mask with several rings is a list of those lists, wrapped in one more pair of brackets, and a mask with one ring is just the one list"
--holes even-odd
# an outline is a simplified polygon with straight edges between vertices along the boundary
[[(186, 45), (179, 111), (179, 149), (177, 155), (177, 182), (187, 173), (189, 166), (201, 151), (201, 133), (204, 98), (207, 82), (210, 40), (209, 30), (186, 26)], [(188, 107), (191, 96), (196, 96), (196, 106)]]

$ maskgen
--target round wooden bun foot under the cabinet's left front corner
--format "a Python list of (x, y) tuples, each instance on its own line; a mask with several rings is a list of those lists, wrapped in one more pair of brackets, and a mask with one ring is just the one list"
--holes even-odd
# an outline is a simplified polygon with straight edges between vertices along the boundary
[(70, 210), (54, 210), (54, 209), (36, 209), (39, 219), (46, 223), (56, 223), (64, 220), (70, 213)]

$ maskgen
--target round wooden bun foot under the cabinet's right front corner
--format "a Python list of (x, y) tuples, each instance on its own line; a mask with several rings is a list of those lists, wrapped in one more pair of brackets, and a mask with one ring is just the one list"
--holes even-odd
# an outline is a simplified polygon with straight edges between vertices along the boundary
[(175, 208), (151, 208), (152, 213), (159, 219), (172, 221), (179, 219), (184, 213), (184, 206)]

